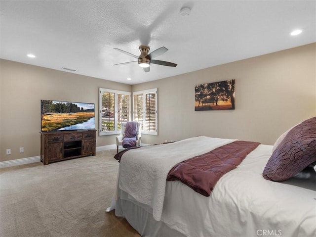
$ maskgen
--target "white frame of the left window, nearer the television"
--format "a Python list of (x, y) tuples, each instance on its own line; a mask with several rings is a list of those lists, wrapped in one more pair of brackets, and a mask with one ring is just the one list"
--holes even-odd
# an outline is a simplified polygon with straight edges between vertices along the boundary
[[(114, 94), (114, 130), (113, 131), (102, 131), (102, 95), (103, 93), (113, 93)], [(127, 121), (131, 121), (131, 93), (125, 91), (118, 91), (106, 88), (99, 88), (99, 136), (106, 135), (117, 135), (120, 134), (121, 129), (118, 129), (118, 95), (128, 95), (128, 117)]]

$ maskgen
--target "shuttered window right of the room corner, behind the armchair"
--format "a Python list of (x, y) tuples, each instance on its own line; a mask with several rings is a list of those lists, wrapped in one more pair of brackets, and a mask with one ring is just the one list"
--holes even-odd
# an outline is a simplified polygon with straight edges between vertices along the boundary
[(158, 135), (157, 88), (134, 92), (133, 120), (142, 122), (143, 134)]

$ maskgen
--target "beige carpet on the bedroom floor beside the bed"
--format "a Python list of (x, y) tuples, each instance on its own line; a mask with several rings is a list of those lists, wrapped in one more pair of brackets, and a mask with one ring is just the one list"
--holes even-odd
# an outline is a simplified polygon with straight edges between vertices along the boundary
[(139, 237), (111, 204), (116, 150), (0, 169), (1, 237)]

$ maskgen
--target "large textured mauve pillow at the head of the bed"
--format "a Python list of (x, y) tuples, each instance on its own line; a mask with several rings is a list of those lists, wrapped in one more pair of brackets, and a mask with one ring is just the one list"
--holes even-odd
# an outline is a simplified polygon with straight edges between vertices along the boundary
[(277, 145), (262, 173), (272, 181), (287, 180), (316, 161), (316, 117), (292, 128)]

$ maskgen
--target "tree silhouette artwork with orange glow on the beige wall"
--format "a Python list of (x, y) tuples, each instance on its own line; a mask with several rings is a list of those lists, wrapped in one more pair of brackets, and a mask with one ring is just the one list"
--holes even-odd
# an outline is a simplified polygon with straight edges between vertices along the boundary
[(235, 79), (195, 87), (195, 110), (235, 109)]

